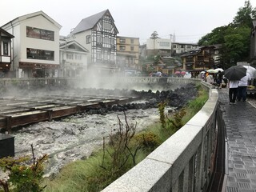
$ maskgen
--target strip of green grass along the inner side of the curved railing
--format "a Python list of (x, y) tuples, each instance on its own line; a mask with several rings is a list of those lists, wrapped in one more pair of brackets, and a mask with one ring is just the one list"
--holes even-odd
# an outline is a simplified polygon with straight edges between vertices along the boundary
[[(142, 130), (137, 134), (127, 134), (127, 126), (125, 125), (124, 134), (127, 138), (121, 140), (113, 140), (118, 143), (115, 145), (106, 145), (104, 150), (98, 150), (86, 160), (70, 162), (62, 168), (56, 178), (45, 178), (42, 185), (47, 185), (46, 192), (83, 192), (83, 191), (100, 191), (114, 182), (122, 174), (126, 173), (134, 166), (134, 162), (142, 161), (157, 146), (161, 145), (171, 134), (177, 131), (174, 123), (180, 123), (181, 126), (186, 124), (202, 108), (208, 99), (208, 93), (198, 87), (198, 98), (190, 101), (183, 110), (176, 114), (170, 115), (166, 119), (166, 126), (162, 126), (161, 122), (148, 126), (146, 130)], [(185, 113), (183, 113), (183, 112)], [(176, 115), (176, 116), (175, 116)], [(175, 120), (176, 118), (176, 120)], [(174, 121), (170, 123), (168, 119)], [(130, 131), (128, 129), (128, 131)], [(127, 142), (129, 141), (129, 142)], [(121, 144), (120, 144), (121, 143)], [(120, 147), (122, 146), (122, 147)]]

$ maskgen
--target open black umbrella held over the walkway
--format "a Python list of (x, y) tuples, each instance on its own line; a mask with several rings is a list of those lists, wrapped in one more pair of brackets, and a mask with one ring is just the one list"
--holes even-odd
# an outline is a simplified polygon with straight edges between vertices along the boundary
[(243, 66), (231, 66), (225, 70), (225, 77), (230, 81), (239, 81), (246, 76), (246, 68)]

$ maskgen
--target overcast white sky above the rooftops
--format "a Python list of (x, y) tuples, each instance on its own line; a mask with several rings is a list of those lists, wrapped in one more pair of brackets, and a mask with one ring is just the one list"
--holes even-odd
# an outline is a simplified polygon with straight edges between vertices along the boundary
[[(58, 22), (61, 35), (92, 14), (110, 10), (119, 36), (146, 42), (154, 32), (159, 38), (175, 34), (176, 42), (198, 42), (218, 26), (233, 21), (245, 0), (4, 0), (0, 26), (24, 14), (42, 10)], [(253, 7), (255, 0), (250, 0)]]

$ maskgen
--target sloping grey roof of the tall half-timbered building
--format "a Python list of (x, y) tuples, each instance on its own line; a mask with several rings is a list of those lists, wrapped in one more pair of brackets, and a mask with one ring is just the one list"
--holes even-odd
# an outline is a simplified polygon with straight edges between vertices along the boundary
[(103, 17), (103, 15), (106, 14), (106, 11), (108, 10), (103, 10), (102, 12), (91, 15), (88, 18), (83, 18), (82, 21), (79, 22), (78, 26), (74, 28), (72, 34), (78, 34), (82, 31), (92, 29), (95, 24)]

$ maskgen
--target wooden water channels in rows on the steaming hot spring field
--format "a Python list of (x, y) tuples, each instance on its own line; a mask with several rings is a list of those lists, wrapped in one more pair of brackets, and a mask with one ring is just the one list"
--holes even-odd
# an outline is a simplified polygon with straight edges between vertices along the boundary
[(9, 133), (13, 127), (33, 122), (51, 121), (87, 109), (137, 100), (118, 96), (49, 95), (0, 98), (0, 130)]

